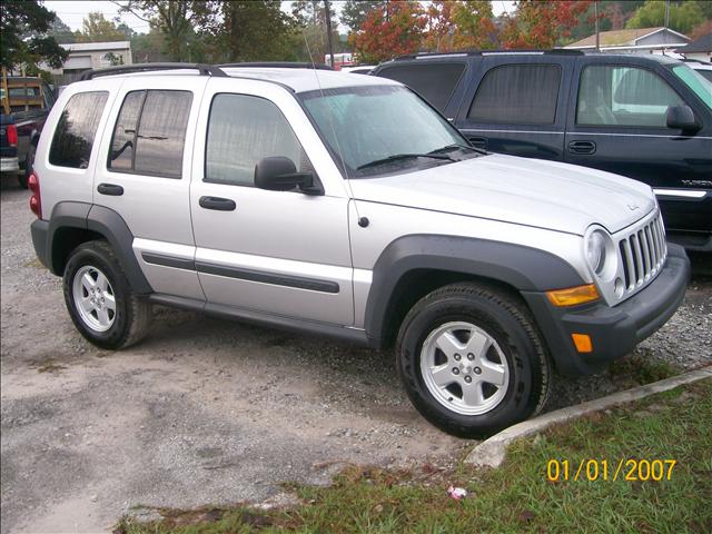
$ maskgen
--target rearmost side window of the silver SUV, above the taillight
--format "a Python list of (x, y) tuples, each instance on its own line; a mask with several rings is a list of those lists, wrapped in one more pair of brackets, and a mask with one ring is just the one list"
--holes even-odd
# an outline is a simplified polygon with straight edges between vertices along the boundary
[(91, 147), (109, 93), (107, 91), (79, 92), (71, 97), (59, 117), (49, 162), (58, 167), (86, 169)]

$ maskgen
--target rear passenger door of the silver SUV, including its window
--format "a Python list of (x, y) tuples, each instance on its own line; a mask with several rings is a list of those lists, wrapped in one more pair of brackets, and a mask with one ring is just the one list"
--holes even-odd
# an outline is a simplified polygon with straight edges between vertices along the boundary
[(201, 300), (192, 268), (189, 188), (206, 81), (126, 78), (101, 140), (93, 184), (93, 202), (118, 212), (131, 230), (134, 253), (154, 291)]

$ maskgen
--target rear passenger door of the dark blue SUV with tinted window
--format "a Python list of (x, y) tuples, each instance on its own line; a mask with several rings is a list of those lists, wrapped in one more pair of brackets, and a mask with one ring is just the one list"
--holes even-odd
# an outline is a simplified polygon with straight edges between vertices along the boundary
[(484, 56), (455, 126), (478, 148), (562, 160), (571, 61), (522, 53)]

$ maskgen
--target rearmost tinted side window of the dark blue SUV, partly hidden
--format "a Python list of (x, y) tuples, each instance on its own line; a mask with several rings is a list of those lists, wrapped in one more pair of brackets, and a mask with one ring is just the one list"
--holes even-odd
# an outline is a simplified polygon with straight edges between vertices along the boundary
[(404, 65), (388, 67), (378, 76), (405, 83), (443, 112), (464, 70), (464, 63)]

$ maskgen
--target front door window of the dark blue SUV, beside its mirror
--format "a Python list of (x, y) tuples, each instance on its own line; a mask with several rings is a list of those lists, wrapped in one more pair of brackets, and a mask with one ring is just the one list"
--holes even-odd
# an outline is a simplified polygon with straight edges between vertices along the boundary
[(683, 103), (655, 72), (636, 67), (592, 65), (581, 73), (576, 123), (664, 128), (668, 108)]

